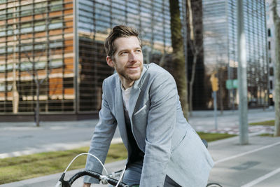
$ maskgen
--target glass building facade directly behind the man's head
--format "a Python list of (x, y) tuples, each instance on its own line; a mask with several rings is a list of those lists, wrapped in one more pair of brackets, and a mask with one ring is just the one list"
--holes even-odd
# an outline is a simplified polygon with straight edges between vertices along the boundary
[(171, 53), (169, 1), (78, 1), (78, 111), (98, 111), (106, 64), (104, 40), (115, 25), (139, 29), (146, 63), (166, 62)]

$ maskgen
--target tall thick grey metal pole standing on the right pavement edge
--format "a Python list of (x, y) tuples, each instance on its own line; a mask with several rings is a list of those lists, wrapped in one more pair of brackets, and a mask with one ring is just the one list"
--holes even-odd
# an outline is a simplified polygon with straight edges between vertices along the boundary
[(248, 105), (246, 75), (246, 40), (243, 21), (243, 0), (237, 0), (239, 143), (248, 144)]

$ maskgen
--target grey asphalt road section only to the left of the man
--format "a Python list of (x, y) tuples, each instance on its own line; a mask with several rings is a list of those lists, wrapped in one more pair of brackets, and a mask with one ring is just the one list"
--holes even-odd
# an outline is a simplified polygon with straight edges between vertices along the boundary
[[(89, 146), (97, 120), (0, 123), (0, 158)], [(116, 131), (115, 138), (120, 134)]]

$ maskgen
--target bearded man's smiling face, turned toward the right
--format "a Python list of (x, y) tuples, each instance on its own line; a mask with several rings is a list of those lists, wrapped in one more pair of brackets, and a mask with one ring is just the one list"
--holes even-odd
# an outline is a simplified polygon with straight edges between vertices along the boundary
[(107, 64), (114, 67), (120, 80), (133, 83), (140, 78), (143, 70), (143, 54), (136, 36), (121, 37), (114, 41), (116, 53), (113, 60), (107, 57)]

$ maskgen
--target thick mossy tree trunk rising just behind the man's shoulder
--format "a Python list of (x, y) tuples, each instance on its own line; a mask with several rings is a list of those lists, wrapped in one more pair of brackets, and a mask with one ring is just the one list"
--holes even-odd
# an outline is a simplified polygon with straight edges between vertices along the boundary
[(186, 78), (186, 63), (183, 53), (183, 36), (180, 19), (179, 0), (169, 0), (170, 24), (172, 35), (172, 64), (184, 116), (188, 118), (188, 87)]

